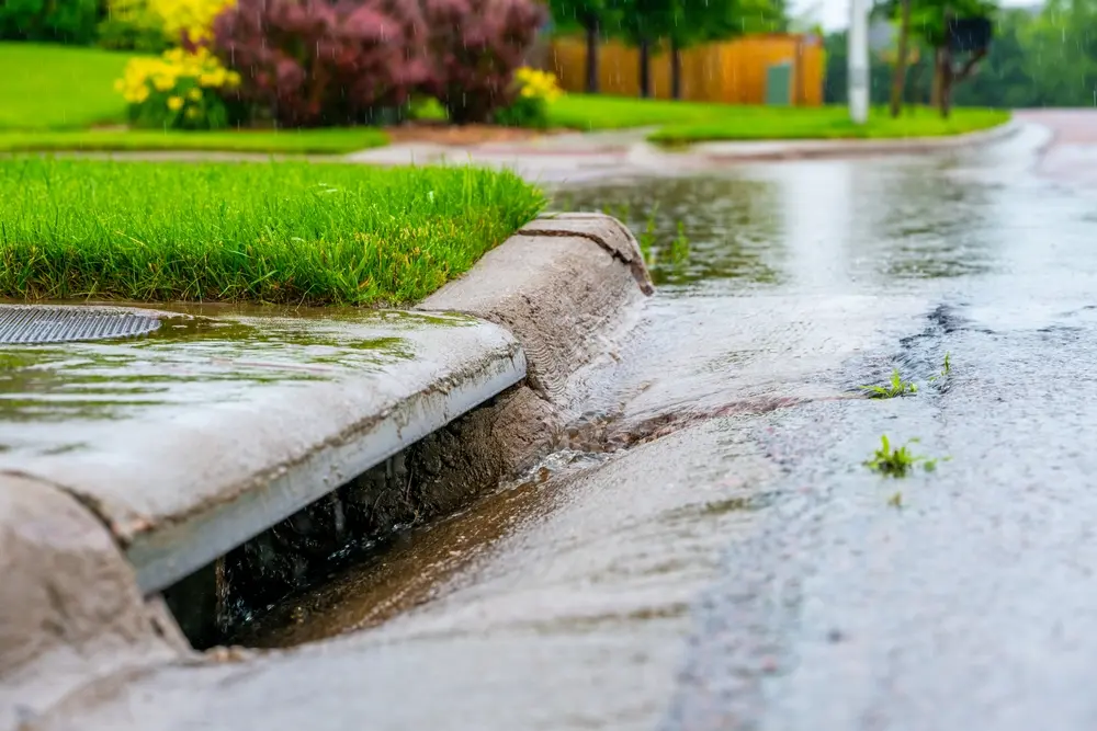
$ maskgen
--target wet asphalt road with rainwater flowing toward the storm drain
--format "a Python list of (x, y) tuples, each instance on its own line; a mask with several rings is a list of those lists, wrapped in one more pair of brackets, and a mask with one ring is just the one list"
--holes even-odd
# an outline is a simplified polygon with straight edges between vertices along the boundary
[[(303, 644), (38, 728), (1097, 727), (1097, 115), (1036, 122), (1076, 147), (568, 191), (654, 209), (659, 295), (576, 384), (638, 444), (580, 426), (269, 638)], [(893, 368), (917, 395), (857, 398)], [(882, 434), (950, 459), (881, 478)]]

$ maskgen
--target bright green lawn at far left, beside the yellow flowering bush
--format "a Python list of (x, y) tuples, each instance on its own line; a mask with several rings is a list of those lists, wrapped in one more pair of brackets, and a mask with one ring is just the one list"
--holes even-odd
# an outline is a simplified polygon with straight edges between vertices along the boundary
[(114, 81), (132, 54), (0, 43), (0, 129), (79, 129), (122, 122)]

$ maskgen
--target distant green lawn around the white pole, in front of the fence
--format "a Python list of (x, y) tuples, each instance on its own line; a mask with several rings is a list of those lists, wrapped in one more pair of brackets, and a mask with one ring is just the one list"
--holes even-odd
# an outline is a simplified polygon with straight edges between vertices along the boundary
[(986, 129), (1009, 119), (1008, 112), (957, 108), (949, 119), (934, 110), (906, 110), (897, 119), (873, 110), (863, 127), (849, 121), (844, 106), (733, 106), (695, 102), (568, 94), (550, 110), (554, 126), (621, 129), (657, 126), (649, 136), (667, 144), (708, 140), (853, 139), (938, 137)]

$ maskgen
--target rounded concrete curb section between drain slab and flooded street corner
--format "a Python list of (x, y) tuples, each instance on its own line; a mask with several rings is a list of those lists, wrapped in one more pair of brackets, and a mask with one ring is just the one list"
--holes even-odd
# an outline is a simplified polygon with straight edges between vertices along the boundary
[(546, 218), (488, 252), (416, 309), (456, 311), (514, 333), (530, 385), (563, 402), (568, 378), (607, 351), (651, 292), (635, 239), (609, 216)]

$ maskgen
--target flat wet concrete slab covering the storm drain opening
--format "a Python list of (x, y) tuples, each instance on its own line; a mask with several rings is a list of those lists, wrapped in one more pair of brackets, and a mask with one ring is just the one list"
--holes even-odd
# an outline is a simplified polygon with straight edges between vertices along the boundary
[(296, 315), (5, 349), (0, 470), (92, 506), (152, 592), (525, 375), (470, 318)]

